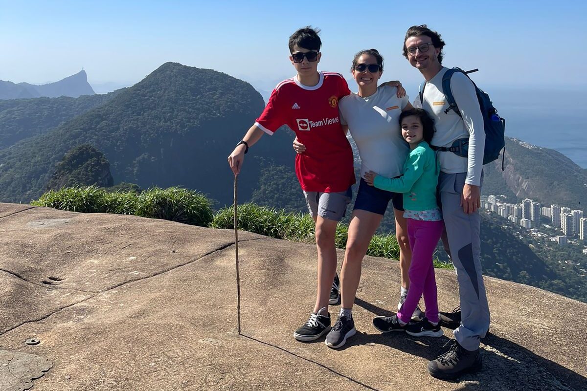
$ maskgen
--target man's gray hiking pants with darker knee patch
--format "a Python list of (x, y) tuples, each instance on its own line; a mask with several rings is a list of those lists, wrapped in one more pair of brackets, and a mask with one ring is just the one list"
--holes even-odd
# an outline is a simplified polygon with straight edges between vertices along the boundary
[(461, 325), (454, 331), (454, 338), (463, 348), (474, 351), (489, 329), (489, 306), (481, 274), (481, 216), (479, 212), (467, 215), (460, 206), (466, 176), (465, 172), (440, 172), (438, 188), (461, 300)]

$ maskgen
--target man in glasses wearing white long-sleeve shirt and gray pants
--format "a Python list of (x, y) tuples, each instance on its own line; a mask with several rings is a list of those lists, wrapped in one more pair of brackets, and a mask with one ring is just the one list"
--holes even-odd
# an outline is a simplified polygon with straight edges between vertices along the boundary
[(448, 352), (430, 361), (428, 371), (435, 378), (454, 379), (482, 368), (479, 343), (489, 329), (489, 307), (481, 274), (481, 217), (478, 212), (485, 131), (475, 87), (463, 73), (454, 73), (450, 80), (460, 115), (449, 110), (442, 87), (444, 73), (448, 70), (442, 66), (443, 47), (444, 41), (437, 32), (426, 25), (411, 26), (404, 39), (403, 55), (426, 80), (421, 104), (434, 118), (436, 132), (432, 145), (451, 147), (454, 141), (468, 138), (467, 157), (438, 151), (438, 189), (448, 247), (457, 271), (461, 323), (454, 331)]

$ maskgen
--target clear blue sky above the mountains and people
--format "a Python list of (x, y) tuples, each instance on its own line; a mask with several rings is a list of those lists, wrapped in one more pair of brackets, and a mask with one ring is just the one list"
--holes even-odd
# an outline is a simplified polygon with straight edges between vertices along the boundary
[(400, 54), (403, 37), (427, 23), (447, 42), (444, 64), (479, 68), (475, 80), (484, 86), (587, 84), (583, 2), (276, 3), (0, 0), (0, 79), (45, 83), (84, 67), (92, 84), (130, 85), (174, 61), (270, 90), (294, 74), (289, 35), (313, 25), (322, 29), (320, 69), (350, 77), (353, 54), (375, 47), (386, 61), (383, 78), (410, 92), (421, 76)]

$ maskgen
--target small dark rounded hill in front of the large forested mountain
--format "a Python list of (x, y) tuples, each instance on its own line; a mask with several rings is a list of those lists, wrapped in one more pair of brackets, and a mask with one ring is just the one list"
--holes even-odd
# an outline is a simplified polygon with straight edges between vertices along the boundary
[(110, 187), (113, 182), (106, 156), (92, 145), (82, 144), (72, 148), (56, 165), (47, 189), (89, 185)]

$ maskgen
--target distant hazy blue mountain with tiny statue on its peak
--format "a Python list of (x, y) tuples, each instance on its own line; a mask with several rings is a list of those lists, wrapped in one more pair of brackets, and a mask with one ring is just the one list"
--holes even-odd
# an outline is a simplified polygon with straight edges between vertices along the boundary
[(92, 86), (87, 82), (85, 70), (68, 76), (65, 79), (48, 84), (12, 83), (11, 81), (0, 80), (0, 99), (19, 99), (69, 96), (77, 98), (82, 95), (95, 94)]

